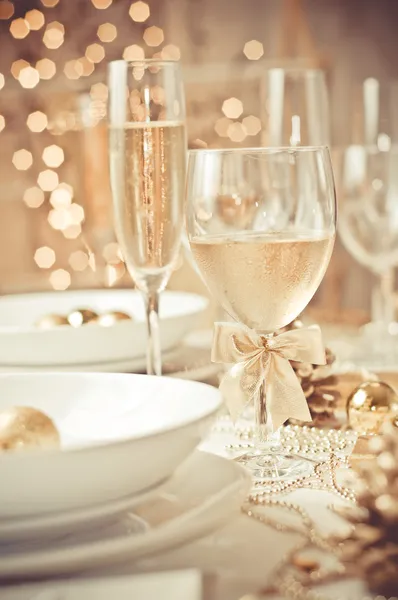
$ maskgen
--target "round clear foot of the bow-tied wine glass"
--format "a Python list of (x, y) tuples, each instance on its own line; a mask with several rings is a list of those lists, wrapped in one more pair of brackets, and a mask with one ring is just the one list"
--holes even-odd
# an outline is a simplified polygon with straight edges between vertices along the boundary
[(264, 454), (259, 450), (247, 452), (236, 458), (253, 477), (269, 481), (294, 481), (311, 475), (314, 465), (309, 460), (283, 453)]

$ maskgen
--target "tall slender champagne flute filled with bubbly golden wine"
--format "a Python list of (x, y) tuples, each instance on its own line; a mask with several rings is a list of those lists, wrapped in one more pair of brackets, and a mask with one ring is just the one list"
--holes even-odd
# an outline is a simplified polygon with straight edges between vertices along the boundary
[(178, 257), (184, 223), (185, 100), (179, 64), (111, 62), (109, 128), (116, 237), (145, 299), (147, 372), (161, 375), (159, 294)]

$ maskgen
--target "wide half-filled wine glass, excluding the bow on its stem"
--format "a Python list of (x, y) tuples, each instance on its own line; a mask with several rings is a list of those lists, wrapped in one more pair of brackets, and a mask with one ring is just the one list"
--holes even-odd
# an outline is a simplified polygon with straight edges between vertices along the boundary
[[(219, 199), (237, 172), (236, 213), (226, 230)], [(268, 339), (305, 308), (332, 254), (336, 208), (328, 149), (191, 151), (186, 190), (189, 241), (210, 293), (234, 321)], [(254, 208), (242, 220), (248, 192)], [(252, 398), (256, 448), (240, 460), (262, 478), (295, 477), (308, 463), (280, 447), (267, 415), (268, 383)]]

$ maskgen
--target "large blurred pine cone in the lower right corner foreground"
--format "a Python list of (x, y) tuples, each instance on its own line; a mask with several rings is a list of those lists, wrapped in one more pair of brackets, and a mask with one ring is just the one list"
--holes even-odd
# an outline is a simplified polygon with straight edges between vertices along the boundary
[(398, 429), (388, 423), (370, 442), (374, 460), (359, 463), (358, 508), (339, 513), (354, 525), (342, 560), (359, 569), (370, 591), (385, 597), (398, 590)]

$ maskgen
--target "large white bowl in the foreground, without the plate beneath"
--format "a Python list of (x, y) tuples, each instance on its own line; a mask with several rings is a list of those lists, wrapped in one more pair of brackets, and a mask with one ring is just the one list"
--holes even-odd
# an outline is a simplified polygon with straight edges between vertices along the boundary
[(61, 451), (0, 455), (0, 519), (83, 508), (156, 485), (207, 434), (222, 404), (203, 383), (108, 373), (0, 375), (0, 410), (51, 417)]

